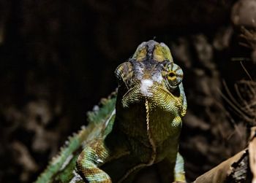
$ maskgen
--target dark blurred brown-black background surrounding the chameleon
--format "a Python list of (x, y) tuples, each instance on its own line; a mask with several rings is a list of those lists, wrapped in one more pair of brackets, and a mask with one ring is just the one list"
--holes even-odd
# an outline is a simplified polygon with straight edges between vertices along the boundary
[[(116, 66), (149, 39), (165, 42), (184, 70), (181, 154), (188, 180), (246, 147), (256, 85), (240, 61), (252, 79), (256, 62), (255, 44), (241, 37), (241, 26), (255, 30), (256, 3), (246, 4), (2, 0), (0, 182), (34, 181), (67, 136), (86, 125), (86, 111), (115, 90)], [(224, 81), (238, 115), (235, 102), (222, 97), (232, 100)]]

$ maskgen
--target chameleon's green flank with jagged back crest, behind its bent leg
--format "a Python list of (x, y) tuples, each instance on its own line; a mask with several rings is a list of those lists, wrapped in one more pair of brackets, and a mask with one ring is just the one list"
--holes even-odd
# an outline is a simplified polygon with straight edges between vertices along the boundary
[[(116, 93), (113, 93), (109, 98), (102, 99), (99, 106), (96, 106), (94, 111), (88, 112), (89, 125), (82, 127), (78, 133), (69, 137), (69, 141), (61, 148), (59, 155), (53, 157), (45, 171), (37, 178), (36, 183), (50, 182), (83, 182), (83, 179), (76, 173), (75, 165), (78, 155), (95, 136), (106, 136), (110, 131), (111, 125), (115, 118)], [(99, 108), (99, 109), (98, 109)], [(108, 128), (105, 125), (108, 123)]]

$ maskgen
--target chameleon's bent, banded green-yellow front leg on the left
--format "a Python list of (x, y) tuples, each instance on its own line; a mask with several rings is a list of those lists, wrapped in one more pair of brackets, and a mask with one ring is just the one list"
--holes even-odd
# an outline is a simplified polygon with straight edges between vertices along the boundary
[(108, 157), (109, 152), (103, 140), (95, 140), (80, 153), (77, 160), (78, 174), (85, 182), (111, 183), (110, 176), (98, 168)]

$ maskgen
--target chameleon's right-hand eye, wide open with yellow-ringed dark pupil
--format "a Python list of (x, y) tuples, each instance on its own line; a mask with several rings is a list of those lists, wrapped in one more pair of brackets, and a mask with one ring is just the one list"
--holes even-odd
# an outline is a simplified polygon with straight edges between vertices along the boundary
[(167, 73), (167, 80), (172, 89), (175, 89), (183, 79), (182, 69), (175, 63), (170, 63), (169, 71)]

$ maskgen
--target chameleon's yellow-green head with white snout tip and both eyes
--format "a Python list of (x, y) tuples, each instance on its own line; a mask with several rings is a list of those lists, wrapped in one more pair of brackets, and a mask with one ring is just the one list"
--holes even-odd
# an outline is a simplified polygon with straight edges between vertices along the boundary
[(173, 63), (170, 50), (154, 40), (141, 43), (129, 61), (116, 69), (118, 93), (123, 93), (124, 108), (148, 101), (151, 109), (170, 112), (177, 109), (183, 116), (187, 104), (182, 87), (183, 71)]

